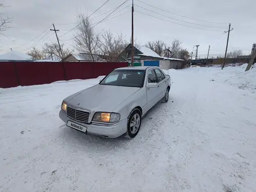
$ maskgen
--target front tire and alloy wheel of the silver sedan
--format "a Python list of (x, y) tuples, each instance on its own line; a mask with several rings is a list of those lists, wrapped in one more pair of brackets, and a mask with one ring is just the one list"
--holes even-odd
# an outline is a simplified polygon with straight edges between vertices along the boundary
[(137, 136), (138, 131), (140, 131), (140, 126), (141, 126), (141, 112), (140, 110), (135, 108), (133, 109), (133, 111), (131, 111), (127, 120), (126, 136), (129, 138), (134, 138), (135, 136)]

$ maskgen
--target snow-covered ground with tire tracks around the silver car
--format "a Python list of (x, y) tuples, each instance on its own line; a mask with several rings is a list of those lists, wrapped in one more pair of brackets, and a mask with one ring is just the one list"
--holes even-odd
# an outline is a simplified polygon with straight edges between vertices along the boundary
[(86, 136), (63, 98), (99, 79), (0, 89), (0, 191), (255, 191), (256, 69), (169, 70), (133, 140)]

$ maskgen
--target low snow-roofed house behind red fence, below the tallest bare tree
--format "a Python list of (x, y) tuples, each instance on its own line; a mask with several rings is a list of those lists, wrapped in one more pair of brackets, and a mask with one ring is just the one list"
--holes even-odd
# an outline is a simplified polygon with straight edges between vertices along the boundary
[(65, 62), (105, 62), (104, 55), (69, 54), (63, 59)]

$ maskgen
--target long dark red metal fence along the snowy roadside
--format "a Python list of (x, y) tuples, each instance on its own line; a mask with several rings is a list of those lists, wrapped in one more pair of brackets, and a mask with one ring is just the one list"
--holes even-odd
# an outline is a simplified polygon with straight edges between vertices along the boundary
[(0, 62), (0, 88), (92, 79), (106, 75), (125, 62)]

